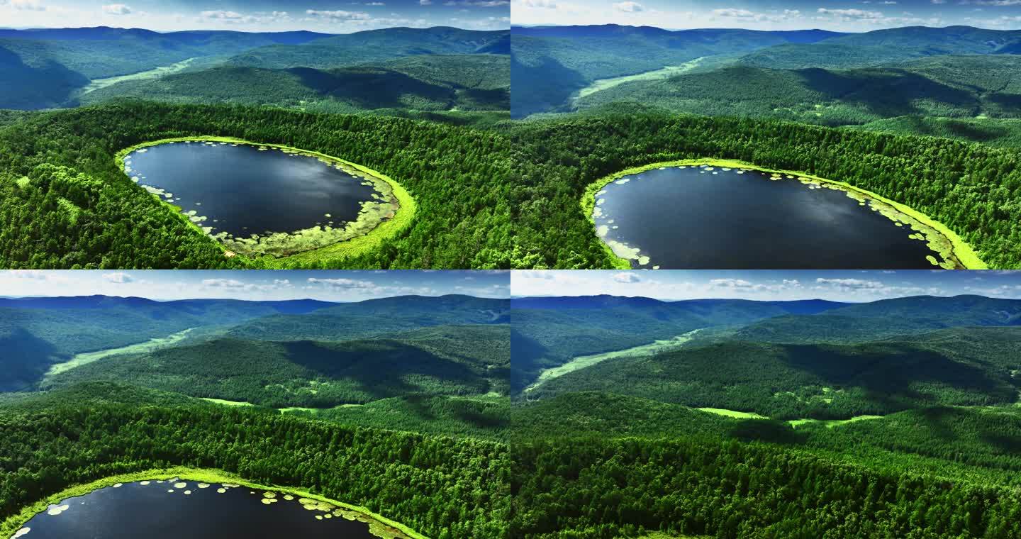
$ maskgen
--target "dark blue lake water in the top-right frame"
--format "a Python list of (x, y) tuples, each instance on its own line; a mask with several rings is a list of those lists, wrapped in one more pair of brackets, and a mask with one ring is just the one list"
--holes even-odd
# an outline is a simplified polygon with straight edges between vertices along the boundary
[(636, 259), (634, 267), (894, 270), (932, 268), (927, 255), (942, 261), (909, 238), (915, 231), (845, 192), (786, 176), (675, 166), (627, 180), (596, 196), (595, 225), (607, 243), (637, 249), (647, 263)]

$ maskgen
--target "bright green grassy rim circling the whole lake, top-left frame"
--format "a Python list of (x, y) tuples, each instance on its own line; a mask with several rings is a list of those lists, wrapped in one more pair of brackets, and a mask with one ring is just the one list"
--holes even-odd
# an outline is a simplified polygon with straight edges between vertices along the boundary
[[(404, 230), (406, 230), (410, 226), (411, 220), (415, 218), (415, 212), (416, 212), (415, 199), (404, 189), (403, 186), (401, 186), (395, 180), (391, 179), (389, 176), (386, 176), (386, 175), (384, 175), (382, 173), (379, 173), (377, 170), (369, 168), (368, 166), (362, 166), (362, 165), (360, 165), (358, 163), (354, 163), (354, 162), (348, 161), (346, 159), (341, 159), (340, 157), (334, 157), (332, 155), (327, 155), (325, 153), (321, 153), (321, 152), (317, 152), (317, 151), (312, 151), (312, 150), (304, 150), (304, 149), (301, 149), (301, 148), (294, 148), (294, 147), (285, 146), (285, 145), (282, 145), (282, 144), (266, 144), (266, 143), (260, 143), (260, 142), (252, 142), (252, 141), (248, 141), (248, 140), (244, 140), (244, 139), (239, 139), (239, 138), (235, 138), (235, 137), (220, 137), (220, 136), (212, 136), (212, 135), (210, 135), (210, 136), (194, 136), (194, 137), (175, 137), (175, 138), (159, 139), (159, 140), (155, 140), (155, 141), (143, 142), (143, 143), (139, 143), (139, 144), (136, 144), (134, 146), (130, 146), (128, 148), (125, 148), (125, 149), (118, 151), (114, 155), (114, 158), (113, 158), (114, 159), (114, 163), (116, 163), (117, 168), (121, 172), (121, 174), (124, 174), (124, 169), (125, 169), (125, 162), (124, 162), (125, 161), (125, 157), (127, 157), (128, 155), (130, 155), (132, 152), (135, 152), (136, 150), (140, 150), (140, 149), (143, 149), (143, 148), (149, 148), (149, 147), (152, 147), (152, 146), (159, 146), (161, 144), (168, 144), (168, 143), (172, 143), (172, 142), (174, 142), (174, 143), (177, 143), (177, 142), (224, 142), (224, 143), (230, 143), (230, 144), (244, 144), (244, 145), (248, 145), (248, 146), (264, 146), (266, 148), (273, 148), (273, 149), (276, 149), (276, 150), (286, 150), (286, 151), (298, 153), (300, 155), (307, 155), (307, 156), (310, 156), (310, 157), (317, 157), (317, 158), (320, 158), (320, 159), (326, 159), (328, 161), (335, 161), (335, 162), (343, 163), (343, 164), (345, 164), (347, 166), (350, 166), (350, 167), (352, 167), (352, 168), (354, 168), (354, 169), (356, 169), (356, 170), (358, 170), (360, 173), (363, 173), (363, 174), (372, 176), (372, 177), (374, 177), (376, 179), (379, 179), (380, 181), (385, 182), (386, 184), (389, 185), (389, 187), (390, 187), (390, 189), (391, 189), (391, 191), (393, 193), (394, 198), (397, 199), (398, 209), (394, 212), (394, 215), (393, 215), (392, 218), (380, 222), (379, 225), (377, 225), (372, 230), (370, 230), (368, 233), (366, 233), (366, 234), (363, 234), (361, 236), (356, 236), (356, 237), (350, 238), (348, 240), (340, 241), (340, 242), (334, 243), (333, 245), (328, 245), (328, 246), (325, 246), (325, 247), (320, 247), (318, 249), (312, 249), (312, 250), (308, 250), (308, 251), (304, 251), (304, 252), (294, 253), (294, 254), (291, 254), (291, 255), (288, 255), (288, 256), (279, 257), (279, 258), (276, 257), (276, 256), (273, 256), (273, 255), (269, 255), (269, 254), (261, 255), (261, 256), (255, 256), (255, 257), (241, 255), (241, 254), (238, 255), (239, 257), (242, 257), (245, 260), (256, 260), (257, 259), (259, 261), (262, 261), (262, 262), (265, 263), (265, 265), (268, 267), (277, 267), (277, 268), (280, 268), (280, 267), (291, 267), (291, 266), (293, 266), (295, 264), (294, 263), (290, 263), (290, 262), (317, 262), (317, 261), (327, 261), (327, 260), (332, 260), (332, 259), (343, 259), (343, 258), (348, 258), (348, 257), (352, 257), (352, 256), (358, 256), (358, 255), (368, 253), (368, 252), (376, 249), (385, 240), (389, 240), (391, 238), (396, 237), (398, 234), (400, 234), (401, 232), (403, 232)], [(129, 177), (127, 174), (125, 174), (125, 178), (129, 182), (131, 182), (131, 177)], [(141, 189), (141, 187), (140, 187), (140, 189)], [(162, 205), (164, 205), (167, 209), (172, 210), (174, 212), (174, 214), (178, 216), (178, 218), (182, 219), (182, 222), (185, 223), (186, 225), (188, 225), (192, 230), (198, 232), (202, 236), (205, 236), (206, 238), (209, 238), (211, 241), (215, 242), (216, 245), (225, 252), (225, 255), (226, 255), (227, 251), (229, 251), (229, 249), (222, 242), (220, 242), (218, 240), (215, 240), (209, 234), (206, 234), (205, 231), (203, 231), (202, 228), (198, 226), (198, 224), (192, 223), (191, 219), (188, 218), (187, 215), (185, 215), (184, 213), (182, 213), (180, 211), (180, 208), (178, 206), (176, 206), (176, 205), (174, 205), (174, 204), (172, 204), (169, 202), (166, 202), (162, 198), (159, 198), (159, 203), (162, 204)]]

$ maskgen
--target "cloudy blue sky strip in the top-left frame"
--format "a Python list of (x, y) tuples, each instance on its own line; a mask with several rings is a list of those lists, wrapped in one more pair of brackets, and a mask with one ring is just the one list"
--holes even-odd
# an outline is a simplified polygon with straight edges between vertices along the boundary
[(0, 0), (0, 27), (347, 34), (390, 27), (510, 26), (509, 0)]

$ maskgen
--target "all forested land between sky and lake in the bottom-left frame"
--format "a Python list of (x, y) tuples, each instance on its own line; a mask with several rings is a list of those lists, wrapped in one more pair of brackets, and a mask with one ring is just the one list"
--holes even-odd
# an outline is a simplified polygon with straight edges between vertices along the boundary
[(0, 298), (14, 351), (0, 355), (0, 521), (72, 485), (183, 465), (308, 489), (432, 538), (502, 539), (508, 308)]

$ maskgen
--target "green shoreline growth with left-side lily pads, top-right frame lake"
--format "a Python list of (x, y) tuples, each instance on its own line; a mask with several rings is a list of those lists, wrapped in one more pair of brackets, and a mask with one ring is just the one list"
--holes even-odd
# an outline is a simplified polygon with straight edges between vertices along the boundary
[[(927, 260), (930, 264), (932, 264), (933, 268), (987, 268), (987, 265), (979, 259), (978, 255), (972, 250), (971, 246), (968, 245), (960, 236), (954, 233), (954, 231), (950, 230), (945, 225), (934, 220), (924, 213), (907, 205), (889, 200), (876, 193), (852, 186), (844, 182), (826, 180), (798, 172), (767, 168), (739, 160), (714, 158), (682, 159), (631, 167), (605, 176), (586, 187), (585, 193), (581, 198), (582, 211), (592, 225), (596, 236), (600, 239), (603, 250), (606, 252), (614, 268), (631, 270), (634, 265), (633, 262), (638, 262), (638, 265), (645, 265), (648, 264), (650, 260), (640, 254), (639, 248), (605, 239), (604, 236), (609, 231), (603, 230), (604, 227), (596, 227), (595, 225), (595, 219), (602, 215), (597, 197), (602, 196), (604, 194), (603, 188), (612, 183), (626, 183), (629, 180), (627, 178), (629, 176), (671, 166), (701, 166), (703, 167), (703, 172), (714, 170), (715, 167), (720, 167), (724, 170), (737, 168), (739, 169), (738, 174), (743, 174), (745, 170), (759, 170), (770, 174), (770, 179), (773, 181), (796, 180), (806, 184), (810, 189), (825, 188), (841, 191), (844, 192), (849, 198), (858, 200), (859, 205), (868, 205), (870, 209), (878, 211), (884, 217), (893, 222), (895, 226), (908, 229), (910, 231), (910, 238), (926, 242), (929, 249), (938, 253), (942, 258), (942, 261), (939, 261), (934, 256), (930, 255), (927, 257)], [(712, 174), (716, 173), (713, 172)], [(659, 266), (653, 266), (653, 270), (659, 270)]]

